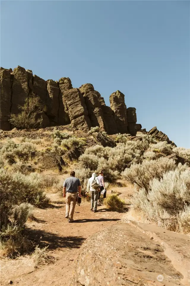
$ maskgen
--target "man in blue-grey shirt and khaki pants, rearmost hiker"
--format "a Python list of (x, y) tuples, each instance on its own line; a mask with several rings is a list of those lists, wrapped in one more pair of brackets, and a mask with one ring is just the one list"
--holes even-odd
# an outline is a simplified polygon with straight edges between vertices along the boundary
[(63, 183), (63, 197), (66, 197), (66, 214), (65, 218), (68, 222), (73, 222), (73, 215), (75, 212), (75, 205), (77, 200), (77, 191), (79, 197), (81, 196), (80, 180), (75, 178), (75, 171), (70, 172), (70, 177)]

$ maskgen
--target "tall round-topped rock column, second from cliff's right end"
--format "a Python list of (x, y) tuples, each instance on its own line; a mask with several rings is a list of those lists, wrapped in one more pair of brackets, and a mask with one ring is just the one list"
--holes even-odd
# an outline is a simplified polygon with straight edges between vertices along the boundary
[(125, 105), (124, 94), (117, 90), (110, 95), (110, 107), (118, 128), (118, 132), (128, 133), (127, 130), (127, 108)]

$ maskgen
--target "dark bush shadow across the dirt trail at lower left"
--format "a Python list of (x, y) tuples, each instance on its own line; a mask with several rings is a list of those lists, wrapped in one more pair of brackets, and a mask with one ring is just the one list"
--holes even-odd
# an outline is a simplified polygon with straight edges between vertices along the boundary
[(84, 237), (81, 236), (59, 236), (58, 234), (46, 232), (40, 229), (27, 230), (29, 239), (34, 245), (39, 245), (40, 248), (49, 246), (48, 249), (57, 248), (80, 248), (85, 241)]

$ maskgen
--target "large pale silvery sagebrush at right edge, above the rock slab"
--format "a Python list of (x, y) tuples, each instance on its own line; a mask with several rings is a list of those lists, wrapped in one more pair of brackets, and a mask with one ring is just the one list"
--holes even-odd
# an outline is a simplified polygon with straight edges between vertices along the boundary
[(134, 193), (132, 207), (158, 226), (190, 233), (190, 171), (176, 168)]

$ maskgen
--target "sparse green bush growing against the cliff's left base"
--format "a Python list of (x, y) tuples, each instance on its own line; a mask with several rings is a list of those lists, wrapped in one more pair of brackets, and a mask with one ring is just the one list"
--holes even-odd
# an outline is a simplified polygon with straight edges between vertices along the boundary
[(11, 114), (10, 123), (19, 129), (37, 128), (42, 124), (42, 109), (40, 98), (26, 98), (24, 106), (18, 106), (21, 109), (19, 114)]

